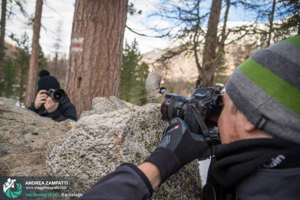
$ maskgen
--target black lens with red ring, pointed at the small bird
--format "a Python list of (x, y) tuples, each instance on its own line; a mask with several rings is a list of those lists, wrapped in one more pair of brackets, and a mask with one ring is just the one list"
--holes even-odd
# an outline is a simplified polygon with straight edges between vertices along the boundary
[(189, 98), (184, 96), (167, 93), (160, 106), (160, 112), (163, 118), (167, 121), (176, 116), (183, 119), (188, 100)]

